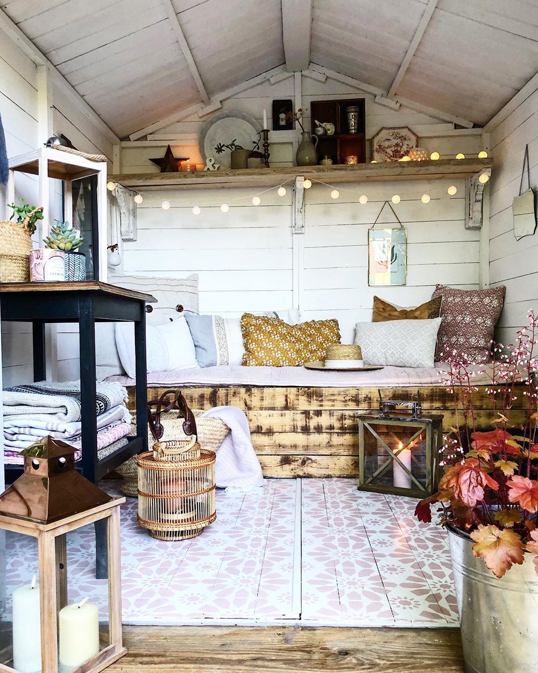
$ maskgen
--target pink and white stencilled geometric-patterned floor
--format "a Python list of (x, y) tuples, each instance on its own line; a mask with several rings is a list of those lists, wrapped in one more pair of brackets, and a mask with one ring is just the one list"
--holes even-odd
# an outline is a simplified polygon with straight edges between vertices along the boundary
[[(102, 487), (116, 491), (117, 483)], [(217, 521), (191, 540), (162, 542), (122, 506), (122, 608), (126, 624), (457, 626), (443, 530), (414, 516), (416, 500), (356, 489), (354, 479), (267, 479), (260, 492), (217, 490)], [(95, 579), (93, 528), (67, 540), (69, 602)], [(7, 607), (28, 583), (36, 549), (7, 537)]]

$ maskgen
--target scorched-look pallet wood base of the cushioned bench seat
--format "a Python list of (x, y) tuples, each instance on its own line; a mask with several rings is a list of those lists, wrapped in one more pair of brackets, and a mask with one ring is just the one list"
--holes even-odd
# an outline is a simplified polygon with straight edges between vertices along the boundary
[[(264, 476), (358, 477), (357, 415), (379, 408), (378, 388), (298, 388), (292, 386), (177, 386), (192, 409), (238, 406), (247, 415), (252, 444)], [(488, 386), (473, 391), (477, 427), (492, 429)], [(128, 388), (129, 396), (132, 388)], [(148, 399), (167, 388), (148, 388)], [(443, 414), (443, 429), (455, 424), (447, 386), (383, 388), (383, 398), (409, 400), (420, 390), (424, 413)], [(525, 398), (510, 412), (512, 424), (525, 418)]]

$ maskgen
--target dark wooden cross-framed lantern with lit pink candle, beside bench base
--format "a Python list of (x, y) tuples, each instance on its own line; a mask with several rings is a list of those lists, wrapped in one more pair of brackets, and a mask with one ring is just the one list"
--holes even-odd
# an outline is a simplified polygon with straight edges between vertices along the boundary
[(423, 415), (419, 402), (380, 402), (359, 421), (359, 489), (426, 497), (436, 491), (443, 415)]

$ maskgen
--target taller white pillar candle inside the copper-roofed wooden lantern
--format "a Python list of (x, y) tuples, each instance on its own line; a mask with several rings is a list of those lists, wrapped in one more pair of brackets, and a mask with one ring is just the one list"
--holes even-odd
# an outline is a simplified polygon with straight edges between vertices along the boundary
[(36, 575), (13, 592), (13, 666), (21, 673), (41, 670), (41, 613)]

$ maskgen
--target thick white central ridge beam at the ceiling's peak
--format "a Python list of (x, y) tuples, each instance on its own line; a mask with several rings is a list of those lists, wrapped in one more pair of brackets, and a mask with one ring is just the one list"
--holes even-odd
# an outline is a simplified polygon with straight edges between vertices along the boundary
[(306, 70), (310, 62), (312, 0), (281, 1), (286, 71)]

